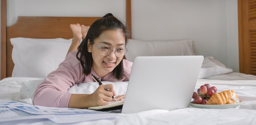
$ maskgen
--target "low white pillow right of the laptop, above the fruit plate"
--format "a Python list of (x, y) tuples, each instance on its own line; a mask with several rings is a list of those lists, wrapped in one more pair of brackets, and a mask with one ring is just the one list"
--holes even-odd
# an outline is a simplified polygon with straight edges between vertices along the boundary
[(213, 75), (221, 75), (231, 73), (233, 70), (227, 68), (225, 65), (220, 63), (218, 60), (211, 56), (205, 57), (198, 75), (199, 79), (207, 78)]

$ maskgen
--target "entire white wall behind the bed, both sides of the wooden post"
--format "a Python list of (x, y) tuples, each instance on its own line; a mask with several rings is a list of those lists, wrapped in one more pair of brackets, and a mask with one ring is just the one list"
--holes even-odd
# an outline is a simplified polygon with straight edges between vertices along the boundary
[[(103, 16), (125, 22), (125, 0), (7, 0), (7, 26), (17, 16)], [(192, 39), (197, 55), (239, 71), (237, 0), (132, 0), (132, 38)]]

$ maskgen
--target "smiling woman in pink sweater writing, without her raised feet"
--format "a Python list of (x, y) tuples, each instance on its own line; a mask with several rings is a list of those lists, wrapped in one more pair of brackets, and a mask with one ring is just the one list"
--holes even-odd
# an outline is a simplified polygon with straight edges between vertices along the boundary
[(128, 81), (132, 62), (123, 59), (128, 35), (126, 26), (111, 13), (95, 21), (78, 50), (70, 52), (58, 69), (38, 85), (34, 105), (88, 108), (113, 101), (116, 95), (112, 84), (100, 85), (92, 94), (71, 94), (67, 90), (74, 84), (94, 82), (92, 74), (100, 81)]

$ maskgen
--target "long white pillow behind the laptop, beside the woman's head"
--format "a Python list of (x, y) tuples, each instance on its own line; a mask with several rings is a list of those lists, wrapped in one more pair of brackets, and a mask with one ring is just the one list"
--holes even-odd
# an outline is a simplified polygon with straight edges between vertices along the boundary
[(133, 62), (137, 56), (193, 56), (192, 40), (139, 41), (128, 39), (126, 59)]

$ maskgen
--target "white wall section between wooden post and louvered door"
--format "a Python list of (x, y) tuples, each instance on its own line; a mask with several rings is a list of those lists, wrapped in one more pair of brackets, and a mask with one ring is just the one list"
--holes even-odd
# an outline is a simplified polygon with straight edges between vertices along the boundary
[(237, 0), (132, 0), (132, 37), (192, 39), (195, 53), (239, 71)]

